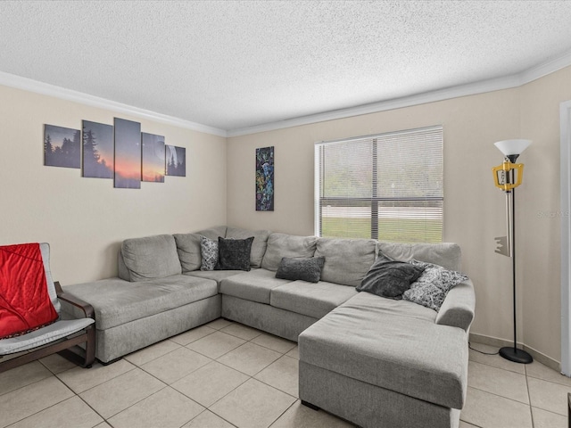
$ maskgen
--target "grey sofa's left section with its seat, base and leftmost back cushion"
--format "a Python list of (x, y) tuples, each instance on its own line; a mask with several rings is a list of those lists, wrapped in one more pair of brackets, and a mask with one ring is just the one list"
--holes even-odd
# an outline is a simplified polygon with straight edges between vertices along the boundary
[(93, 306), (103, 363), (220, 316), (218, 284), (181, 275), (172, 235), (126, 240), (119, 259), (122, 277), (65, 287)]

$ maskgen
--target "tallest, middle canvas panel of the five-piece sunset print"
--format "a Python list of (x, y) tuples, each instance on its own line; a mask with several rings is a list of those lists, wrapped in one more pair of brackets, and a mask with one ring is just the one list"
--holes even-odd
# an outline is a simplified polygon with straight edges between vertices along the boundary
[(141, 124), (115, 118), (115, 187), (141, 188)]

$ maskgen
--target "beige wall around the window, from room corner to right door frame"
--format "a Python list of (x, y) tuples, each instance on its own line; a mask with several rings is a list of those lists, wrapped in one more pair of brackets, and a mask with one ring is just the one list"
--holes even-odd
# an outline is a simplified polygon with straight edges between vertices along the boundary
[[(571, 99), (571, 68), (509, 90), (228, 138), (228, 224), (313, 235), (314, 143), (442, 124), (444, 241), (459, 243), (463, 270), (476, 286), (472, 333), (512, 340), (511, 262), (496, 254), (506, 235), (505, 196), (492, 182), (502, 155), (493, 143), (525, 137), (534, 144), (517, 190), (519, 339), (560, 359), (559, 102)], [(254, 152), (275, 146), (275, 211), (254, 210)]]

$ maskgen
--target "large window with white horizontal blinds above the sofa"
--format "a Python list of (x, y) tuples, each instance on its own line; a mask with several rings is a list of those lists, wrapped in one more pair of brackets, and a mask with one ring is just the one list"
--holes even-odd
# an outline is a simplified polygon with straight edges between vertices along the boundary
[(443, 240), (443, 127), (315, 146), (315, 229), (324, 237)]

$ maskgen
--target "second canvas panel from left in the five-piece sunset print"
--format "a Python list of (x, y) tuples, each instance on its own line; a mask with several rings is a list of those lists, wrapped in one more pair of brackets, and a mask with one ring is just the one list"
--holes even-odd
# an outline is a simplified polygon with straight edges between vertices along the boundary
[(115, 162), (113, 127), (83, 120), (83, 177), (112, 178)]

